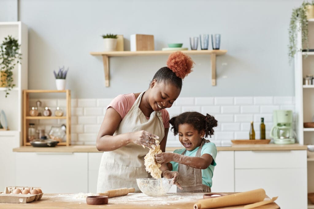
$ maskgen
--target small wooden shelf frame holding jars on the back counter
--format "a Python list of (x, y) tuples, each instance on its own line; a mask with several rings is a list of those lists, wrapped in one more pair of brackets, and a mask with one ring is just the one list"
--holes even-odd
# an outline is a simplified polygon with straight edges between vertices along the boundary
[[(30, 93), (66, 93), (67, 107), (65, 116), (30, 116), (29, 115), (29, 94)], [(49, 120), (49, 119), (66, 119), (66, 142), (59, 142), (58, 145), (69, 146), (71, 144), (71, 91), (70, 90), (23, 90), (23, 145), (29, 146), (27, 141), (28, 120)]]

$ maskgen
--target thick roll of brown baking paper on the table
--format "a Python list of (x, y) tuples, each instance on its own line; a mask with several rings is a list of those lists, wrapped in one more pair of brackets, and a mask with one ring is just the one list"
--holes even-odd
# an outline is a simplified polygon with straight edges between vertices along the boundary
[(207, 209), (236, 205), (246, 205), (263, 201), (265, 199), (265, 196), (266, 193), (265, 190), (263, 189), (239, 192), (232, 195), (199, 200), (196, 204), (194, 204), (194, 209)]

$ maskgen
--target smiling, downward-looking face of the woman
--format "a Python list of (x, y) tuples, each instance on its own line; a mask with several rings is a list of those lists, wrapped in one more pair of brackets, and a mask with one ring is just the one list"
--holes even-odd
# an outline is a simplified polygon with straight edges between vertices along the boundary
[(149, 105), (154, 111), (169, 108), (179, 97), (180, 92), (181, 89), (171, 83), (157, 83), (156, 80), (153, 80), (150, 84), (148, 96)]

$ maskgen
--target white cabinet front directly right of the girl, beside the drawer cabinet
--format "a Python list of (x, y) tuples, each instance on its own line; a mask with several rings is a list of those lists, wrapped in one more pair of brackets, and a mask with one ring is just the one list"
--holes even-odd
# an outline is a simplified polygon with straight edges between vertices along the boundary
[(234, 192), (234, 151), (218, 151), (212, 192)]

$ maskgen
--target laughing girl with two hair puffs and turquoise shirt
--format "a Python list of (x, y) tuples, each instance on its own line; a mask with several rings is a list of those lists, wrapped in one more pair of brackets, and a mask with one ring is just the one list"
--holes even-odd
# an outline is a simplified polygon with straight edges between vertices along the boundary
[(211, 192), (217, 148), (204, 137), (214, 134), (217, 120), (208, 114), (184, 112), (169, 122), (184, 148), (156, 155), (156, 162), (162, 164), (162, 175), (177, 179), (181, 189), (177, 191)]

